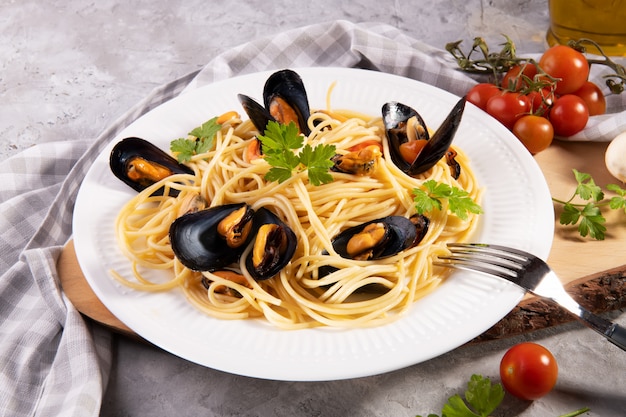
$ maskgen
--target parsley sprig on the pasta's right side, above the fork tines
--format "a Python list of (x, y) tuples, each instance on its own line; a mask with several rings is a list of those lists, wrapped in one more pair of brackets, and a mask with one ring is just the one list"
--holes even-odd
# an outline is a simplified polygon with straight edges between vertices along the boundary
[(413, 189), (413, 201), (418, 214), (442, 210), (443, 200), (448, 201), (448, 210), (462, 220), (466, 220), (469, 213), (482, 213), (480, 205), (465, 190), (435, 180), (425, 181), (422, 186)]

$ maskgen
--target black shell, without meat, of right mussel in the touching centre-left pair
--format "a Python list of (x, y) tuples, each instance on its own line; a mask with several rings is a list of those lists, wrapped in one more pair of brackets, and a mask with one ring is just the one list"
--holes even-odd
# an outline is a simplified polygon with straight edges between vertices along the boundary
[[(266, 256), (262, 264), (259, 266), (254, 265), (252, 260), (253, 251), (250, 251), (245, 261), (246, 269), (250, 275), (252, 275), (255, 280), (262, 281), (272, 278), (291, 261), (296, 251), (297, 238), (296, 234), (287, 224), (266, 208), (257, 210), (254, 222), (255, 231), (257, 232), (261, 226), (265, 224), (275, 224), (278, 226), (267, 240), (267, 247), (265, 249)], [(257, 239), (256, 236), (255, 239)]]

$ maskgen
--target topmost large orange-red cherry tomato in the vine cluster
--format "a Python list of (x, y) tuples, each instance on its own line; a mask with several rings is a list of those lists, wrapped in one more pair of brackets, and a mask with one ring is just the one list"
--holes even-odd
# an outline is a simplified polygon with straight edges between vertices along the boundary
[(589, 77), (587, 58), (577, 50), (556, 45), (543, 53), (539, 66), (550, 76), (560, 78), (556, 94), (569, 94), (578, 90)]

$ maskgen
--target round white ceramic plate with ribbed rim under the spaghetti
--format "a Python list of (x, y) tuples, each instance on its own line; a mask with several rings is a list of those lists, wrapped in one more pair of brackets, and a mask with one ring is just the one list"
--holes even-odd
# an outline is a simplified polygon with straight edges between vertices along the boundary
[[(332, 106), (379, 114), (383, 103), (416, 108), (436, 128), (458, 97), (414, 80), (345, 68), (297, 69), (313, 108)], [(167, 150), (210, 117), (236, 109), (243, 93), (261, 98), (270, 73), (218, 82), (173, 99), (144, 115), (102, 152), (81, 186), (74, 212), (76, 254), (87, 281), (109, 310), (146, 340), (189, 361), (226, 372), (278, 380), (334, 380), (403, 368), (448, 352), (478, 336), (522, 298), (513, 285), (457, 272), (401, 319), (376, 328), (284, 331), (257, 320), (205, 316), (179, 291), (151, 294), (118, 284), (110, 269), (130, 275), (119, 251), (114, 219), (134, 194), (109, 171), (111, 147), (127, 136), (149, 139)], [(476, 242), (514, 246), (547, 257), (553, 208), (544, 177), (529, 153), (502, 125), (468, 104), (455, 143), (472, 159), (485, 188)]]

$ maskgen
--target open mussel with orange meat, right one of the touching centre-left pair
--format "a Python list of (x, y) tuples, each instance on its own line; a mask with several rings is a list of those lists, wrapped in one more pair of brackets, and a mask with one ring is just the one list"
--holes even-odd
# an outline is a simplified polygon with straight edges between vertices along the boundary
[(291, 261), (297, 238), (287, 224), (266, 208), (257, 210), (254, 223), (254, 247), (245, 264), (250, 275), (262, 281), (279, 273)]

